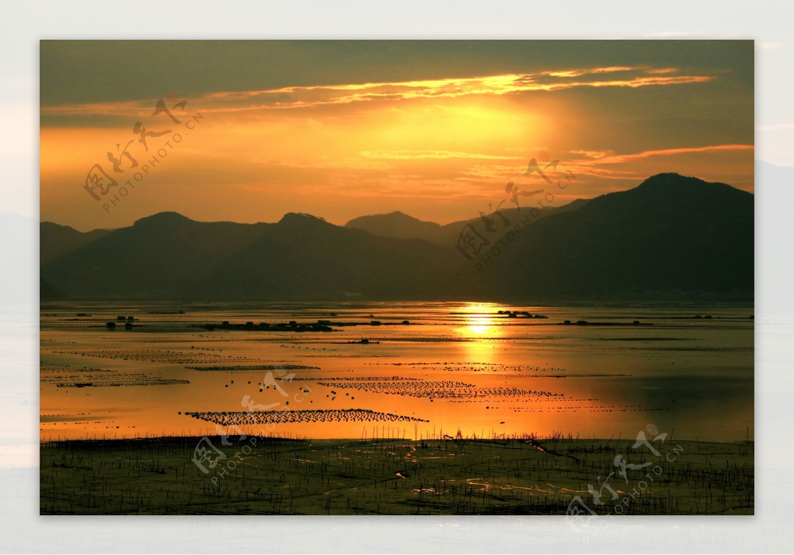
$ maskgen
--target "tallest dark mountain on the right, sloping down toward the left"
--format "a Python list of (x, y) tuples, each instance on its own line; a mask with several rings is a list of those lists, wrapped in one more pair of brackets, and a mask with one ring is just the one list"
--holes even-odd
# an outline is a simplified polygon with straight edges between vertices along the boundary
[(489, 291), (510, 283), (515, 294), (546, 298), (673, 291), (751, 297), (754, 195), (724, 183), (654, 175), (522, 229), (480, 270)]

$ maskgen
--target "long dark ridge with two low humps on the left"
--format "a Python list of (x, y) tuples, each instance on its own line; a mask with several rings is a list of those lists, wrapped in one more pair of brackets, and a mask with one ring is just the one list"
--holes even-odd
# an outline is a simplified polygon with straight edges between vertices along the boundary
[(441, 294), (452, 249), (376, 237), (301, 214), (276, 224), (175, 213), (115, 229), (41, 268), (73, 298), (336, 299)]

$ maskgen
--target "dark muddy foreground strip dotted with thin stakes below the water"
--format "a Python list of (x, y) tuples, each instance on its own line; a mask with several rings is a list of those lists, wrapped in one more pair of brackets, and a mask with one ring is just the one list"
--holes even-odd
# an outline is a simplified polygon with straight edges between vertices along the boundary
[[(201, 441), (225, 453), (207, 472)], [(561, 436), (48, 441), (40, 514), (754, 514), (752, 441), (650, 445), (658, 456), (634, 438)]]

